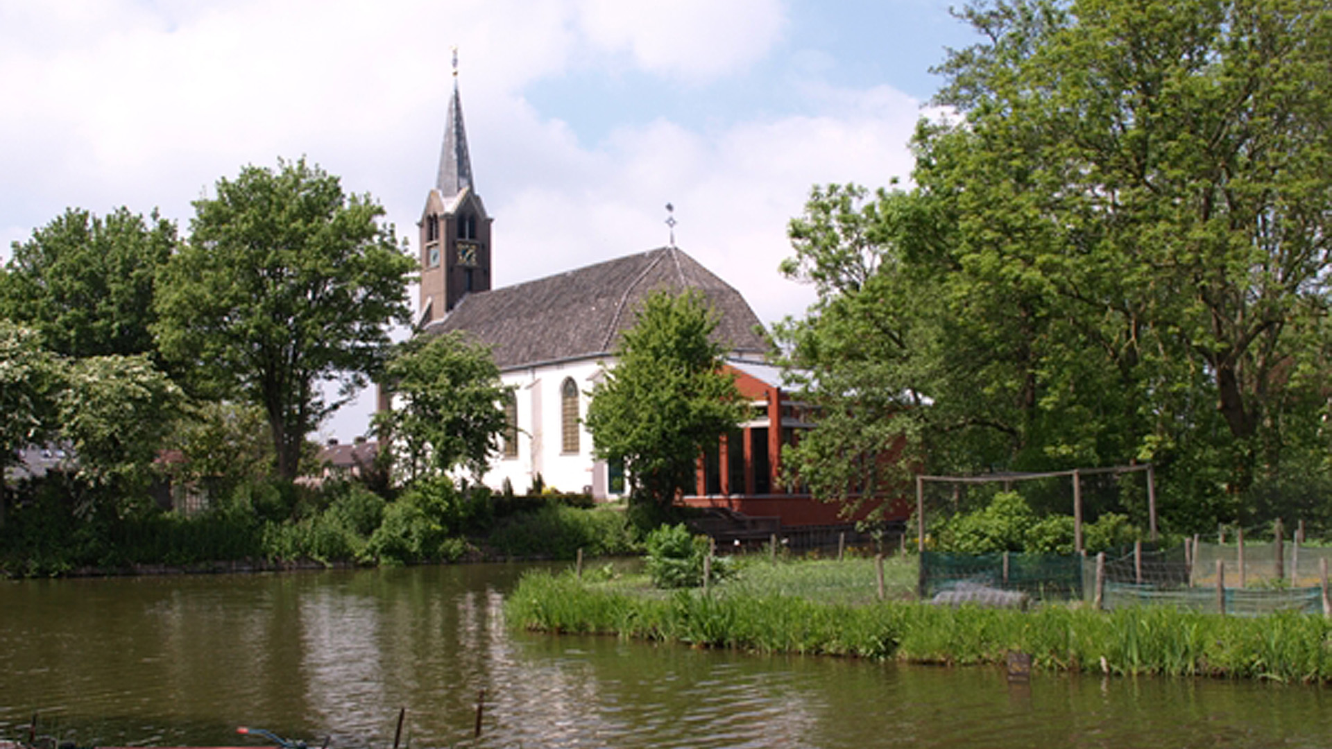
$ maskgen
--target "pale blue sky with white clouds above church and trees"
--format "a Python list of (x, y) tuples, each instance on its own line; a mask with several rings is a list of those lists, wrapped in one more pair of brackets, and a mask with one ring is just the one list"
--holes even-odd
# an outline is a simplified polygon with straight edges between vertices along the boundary
[(456, 45), (496, 287), (662, 247), (670, 203), (765, 324), (799, 316), (787, 221), (815, 184), (908, 179), (928, 69), (976, 41), (956, 3), (0, 0), (0, 259), (68, 207), (188, 235), (220, 177), (301, 156), (414, 251)]

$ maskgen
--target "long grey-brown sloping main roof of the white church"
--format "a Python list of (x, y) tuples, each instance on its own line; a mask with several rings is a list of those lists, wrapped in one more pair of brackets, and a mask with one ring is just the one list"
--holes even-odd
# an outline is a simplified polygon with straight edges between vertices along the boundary
[(472, 293), (426, 329), (466, 332), (492, 347), (500, 369), (606, 356), (621, 331), (634, 324), (643, 299), (658, 289), (703, 292), (719, 319), (714, 340), (729, 352), (767, 352), (745, 297), (674, 247)]

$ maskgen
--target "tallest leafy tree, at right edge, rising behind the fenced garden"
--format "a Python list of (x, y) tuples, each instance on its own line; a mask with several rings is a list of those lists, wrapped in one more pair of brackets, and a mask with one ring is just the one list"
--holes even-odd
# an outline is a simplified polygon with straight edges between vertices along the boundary
[[(1325, 300), (1332, 9), (1024, 0), (966, 17), (988, 41), (948, 60), (939, 96), (963, 120), (923, 133), (916, 169), (955, 207), (955, 256), (987, 291), (1038, 292), (1139, 386), (1131, 410), (1177, 418), (1160, 390), (1200, 385), (1243, 490), (1280, 461), (1289, 344)], [(1136, 426), (1147, 454), (1173, 441)]]

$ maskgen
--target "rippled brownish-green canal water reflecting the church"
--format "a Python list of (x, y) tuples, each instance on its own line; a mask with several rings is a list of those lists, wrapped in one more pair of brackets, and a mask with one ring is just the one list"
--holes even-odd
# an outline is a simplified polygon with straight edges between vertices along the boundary
[[(519, 565), (0, 584), (0, 738), (337, 748), (1328, 746), (1319, 688), (513, 632)], [(485, 690), (482, 736), (473, 738)]]

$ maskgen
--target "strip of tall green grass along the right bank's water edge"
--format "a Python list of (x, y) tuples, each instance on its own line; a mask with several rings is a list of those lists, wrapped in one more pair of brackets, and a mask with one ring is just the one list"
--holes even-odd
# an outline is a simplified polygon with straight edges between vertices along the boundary
[(1050, 670), (1332, 681), (1332, 624), (1297, 613), (1239, 618), (1166, 608), (855, 605), (737, 589), (643, 596), (623, 582), (533, 573), (509, 597), (507, 617), (539, 632), (759, 653), (967, 665), (1003, 662), (1010, 650), (1022, 650)]

